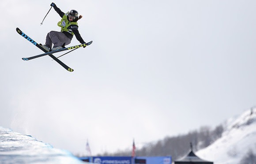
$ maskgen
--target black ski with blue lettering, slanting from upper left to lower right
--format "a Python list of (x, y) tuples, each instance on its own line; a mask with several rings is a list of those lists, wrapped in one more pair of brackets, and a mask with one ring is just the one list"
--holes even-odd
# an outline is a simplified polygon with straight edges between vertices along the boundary
[[(30, 43), (32, 43), (33, 45), (37, 46), (38, 48), (40, 48), (43, 52), (48, 52), (45, 48), (43, 48), (41, 45), (39, 45), (37, 42), (35, 42), (33, 39), (31, 39), (29, 36), (27, 36), (25, 33), (23, 33), (18, 27), (16, 28), (16, 31), (22, 36), (24, 37), (26, 40), (30, 41)], [(72, 68), (68, 67), (66, 64), (64, 64), (62, 61), (60, 61), (59, 59), (57, 59), (55, 56), (53, 56), (53, 54), (48, 54), (51, 58), (53, 58), (53, 60), (55, 60), (57, 63), (59, 63), (62, 67), (64, 67), (66, 70), (72, 72), (74, 71)]]

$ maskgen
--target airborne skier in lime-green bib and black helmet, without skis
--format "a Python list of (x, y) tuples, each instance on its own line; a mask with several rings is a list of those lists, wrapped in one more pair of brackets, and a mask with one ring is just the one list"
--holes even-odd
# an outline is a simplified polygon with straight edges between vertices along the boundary
[(50, 31), (46, 35), (45, 45), (42, 45), (42, 47), (48, 51), (60, 49), (64, 45), (70, 44), (74, 35), (81, 44), (86, 44), (86, 42), (83, 41), (83, 38), (79, 34), (77, 23), (77, 21), (83, 16), (78, 16), (78, 12), (76, 10), (71, 10), (65, 14), (54, 3), (52, 3), (51, 6), (62, 18), (60, 22), (58, 22), (58, 26), (61, 27), (61, 32)]

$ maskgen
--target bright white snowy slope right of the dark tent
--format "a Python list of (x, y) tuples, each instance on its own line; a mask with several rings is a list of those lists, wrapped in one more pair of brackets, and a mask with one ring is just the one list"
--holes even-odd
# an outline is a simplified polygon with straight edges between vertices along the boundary
[(229, 119), (222, 137), (196, 155), (214, 164), (239, 164), (249, 149), (256, 153), (255, 108)]

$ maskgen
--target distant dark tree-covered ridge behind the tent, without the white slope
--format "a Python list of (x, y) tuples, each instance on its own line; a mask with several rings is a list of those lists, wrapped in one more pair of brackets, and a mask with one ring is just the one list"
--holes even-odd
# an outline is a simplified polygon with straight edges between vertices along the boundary
[[(189, 143), (192, 142), (193, 150), (203, 149), (220, 138), (223, 133), (222, 125), (211, 130), (204, 126), (200, 130), (193, 130), (188, 134), (166, 137), (157, 142), (144, 145), (141, 149), (136, 149), (136, 156), (172, 156), (173, 160), (183, 157), (190, 149)], [(130, 156), (131, 150), (118, 150), (116, 153), (104, 153), (98, 156)]]

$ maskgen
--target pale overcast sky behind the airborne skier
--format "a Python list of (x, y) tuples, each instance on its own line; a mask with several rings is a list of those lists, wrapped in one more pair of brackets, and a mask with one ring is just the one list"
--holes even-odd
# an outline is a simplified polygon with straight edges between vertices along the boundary
[[(215, 127), (256, 104), (255, 0), (56, 0), (83, 39), (23, 61), (60, 31), (52, 1), (1, 1), (0, 126), (95, 155)], [(74, 37), (70, 45), (78, 45)], [(56, 54), (56, 56), (63, 53)]]

